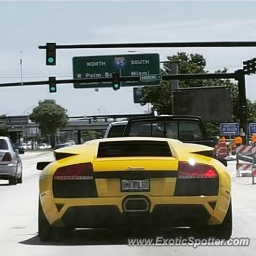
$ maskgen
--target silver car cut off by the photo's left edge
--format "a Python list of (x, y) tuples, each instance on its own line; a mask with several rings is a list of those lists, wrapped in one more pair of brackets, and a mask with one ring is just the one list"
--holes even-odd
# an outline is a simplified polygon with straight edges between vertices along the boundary
[(0, 137), (0, 179), (9, 180), (10, 185), (22, 183), (22, 162), (19, 154), (24, 154), (24, 150), (15, 149), (8, 137)]

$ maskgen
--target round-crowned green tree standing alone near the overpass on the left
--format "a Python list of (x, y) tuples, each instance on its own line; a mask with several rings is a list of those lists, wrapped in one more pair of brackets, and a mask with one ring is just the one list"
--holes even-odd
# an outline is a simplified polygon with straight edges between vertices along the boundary
[(43, 135), (51, 136), (51, 145), (55, 146), (55, 135), (58, 128), (64, 128), (68, 122), (67, 110), (55, 100), (39, 101), (38, 106), (29, 115), (31, 121), (39, 124)]

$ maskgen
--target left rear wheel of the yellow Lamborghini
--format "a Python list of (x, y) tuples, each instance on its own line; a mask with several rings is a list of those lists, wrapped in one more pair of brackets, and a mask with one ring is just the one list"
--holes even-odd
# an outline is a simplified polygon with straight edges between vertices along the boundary
[(52, 227), (45, 217), (41, 201), (38, 201), (38, 236), (42, 242), (60, 239), (68, 234), (68, 229)]

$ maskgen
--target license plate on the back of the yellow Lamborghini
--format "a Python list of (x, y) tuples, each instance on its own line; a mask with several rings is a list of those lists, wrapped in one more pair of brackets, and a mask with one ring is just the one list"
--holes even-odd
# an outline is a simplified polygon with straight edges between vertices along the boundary
[(121, 180), (121, 191), (149, 191), (149, 179)]

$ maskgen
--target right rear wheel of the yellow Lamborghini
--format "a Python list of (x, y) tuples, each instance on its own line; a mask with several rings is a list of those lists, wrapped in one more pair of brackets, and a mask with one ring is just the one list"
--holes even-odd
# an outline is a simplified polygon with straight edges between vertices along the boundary
[(227, 214), (220, 225), (208, 226), (205, 230), (207, 237), (214, 237), (216, 239), (228, 240), (232, 235), (233, 217), (232, 217), (232, 203), (230, 199)]

